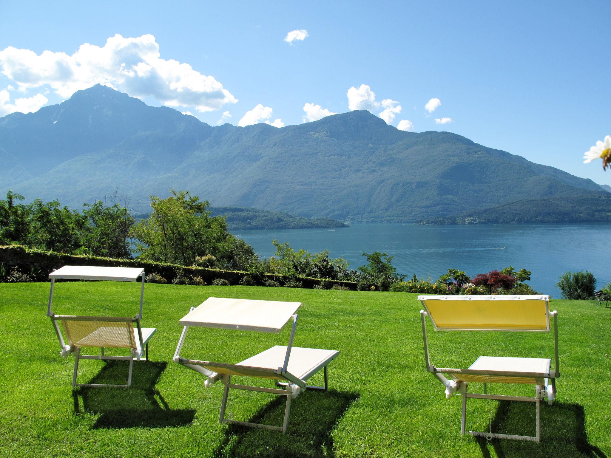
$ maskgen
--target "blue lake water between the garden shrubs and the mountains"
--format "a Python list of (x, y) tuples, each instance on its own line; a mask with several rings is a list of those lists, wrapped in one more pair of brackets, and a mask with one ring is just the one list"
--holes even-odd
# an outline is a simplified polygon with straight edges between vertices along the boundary
[(309, 252), (329, 250), (343, 256), (351, 269), (365, 264), (367, 252), (386, 252), (401, 274), (430, 275), (448, 268), (470, 277), (513, 266), (532, 271), (530, 285), (543, 294), (560, 297), (558, 277), (566, 271), (588, 269), (602, 288), (611, 281), (610, 224), (452, 225), (353, 224), (349, 228), (233, 231), (260, 256), (276, 252), (271, 241), (289, 242)]

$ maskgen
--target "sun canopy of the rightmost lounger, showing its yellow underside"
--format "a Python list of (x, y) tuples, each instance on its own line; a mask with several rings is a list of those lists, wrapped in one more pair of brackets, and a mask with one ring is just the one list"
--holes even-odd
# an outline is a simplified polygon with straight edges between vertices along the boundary
[(435, 330), (549, 332), (549, 296), (419, 296)]

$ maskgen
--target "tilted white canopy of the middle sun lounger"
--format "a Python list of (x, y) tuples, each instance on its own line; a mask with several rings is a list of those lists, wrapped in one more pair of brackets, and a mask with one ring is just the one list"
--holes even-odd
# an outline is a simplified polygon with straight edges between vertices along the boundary
[(186, 314), (180, 324), (280, 333), (300, 306), (301, 302), (208, 297)]

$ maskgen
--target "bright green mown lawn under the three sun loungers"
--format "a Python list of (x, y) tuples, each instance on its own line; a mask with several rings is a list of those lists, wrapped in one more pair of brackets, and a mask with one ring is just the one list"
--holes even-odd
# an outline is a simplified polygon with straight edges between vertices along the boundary
[[(459, 396), (426, 373), (415, 294), (247, 286), (145, 286), (144, 327), (158, 329), (150, 362), (134, 363), (132, 388), (71, 388), (73, 357), (59, 355), (46, 317), (49, 283), (0, 284), (0, 455), (23, 456), (460, 456), (548, 457), (611, 454), (611, 309), (553, 300), (558, 310), (558, 398), (541, 407), (540, 444), (460, 435)], [(54, 311), (137, 313), (139, 284), (57, 283)], [(222, 385), (172, 362), (178, 319), (208, 296), (303, 302), (296, 346), (340, 351), (329, 393), (293, 401), (288, 434), (219, 424)], [(183, 357), (238, 362), (280, 335), (191, 328)], [(461, 367), (479, 355), (553, 357), (552, 333), (434, 332), (431, 362)], [(124, 383), (127, 364), (83, 360), (79, 382)], [(322, 383), (318, 374), (312, 382)], [(244, 380), (249, 382), (249, 380)], [(93, 382), (93, 383), (95, 383)], [(250, 380), (252, 382), (252, 380)], [(470, 384), (471, 391), (481, 385)], [(532, 395), (530, 386), (491, 392)], [(232, 391), (227, 415), (280, 424), (284, 397)], [(470, 399), (467, 428), (534, 434), (535, 407)]]

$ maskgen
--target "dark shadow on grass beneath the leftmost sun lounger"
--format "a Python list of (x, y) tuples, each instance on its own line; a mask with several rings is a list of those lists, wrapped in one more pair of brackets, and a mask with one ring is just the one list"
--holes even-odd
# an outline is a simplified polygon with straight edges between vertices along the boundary
[[(127, 361), (108, 361), (90, 382), (120, 383), (128, 372)], [(73, 390), (75, 412), (98, 413), (98, 428), (168, 427), (191, 424), (195, 410), (170, 409), (155, 385), (166, 369), (164, 362), (136, 362), (130, 388), (87, 388)], [(123, 382), (124, 383), (124, 382)]]

